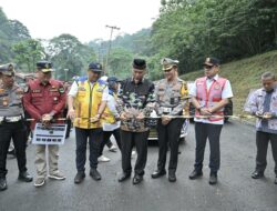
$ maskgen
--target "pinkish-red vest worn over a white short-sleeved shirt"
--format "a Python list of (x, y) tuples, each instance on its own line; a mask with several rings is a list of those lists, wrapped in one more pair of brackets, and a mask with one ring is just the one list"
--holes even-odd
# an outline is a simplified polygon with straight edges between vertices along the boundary
[[(196, 99), (199, 102), (201, 107), (209, 108), (214, 107), (217, 102), (222, 101), (222, 93), (223, 89), (225, 87), (227, 79), (218, 78), (217, 80), (214, 80), (212, 83), (209, 90), (207, 90), (207, 79), (206, 77), (199, 78), (196, 80)], [(215, 115), (223, 115), (224, 108), (214, 112)], [(199, 115), (199, 111), (195, 111), (195, 115)], [(220, 121), (224, 118), (209, 118), (209, 121)]]

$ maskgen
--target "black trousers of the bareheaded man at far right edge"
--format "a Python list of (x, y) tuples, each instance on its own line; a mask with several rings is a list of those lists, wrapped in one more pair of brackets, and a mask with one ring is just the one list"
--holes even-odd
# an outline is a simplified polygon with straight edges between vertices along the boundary
[(277, 134), (268, 132), (256, 132), (257, 157), (256, 157), (256, 170), (264, 172), (267, 165), (267, 148), (268, 142), (271, 143), (273, 157), (275, 161), (275, 174), (277, 175)]

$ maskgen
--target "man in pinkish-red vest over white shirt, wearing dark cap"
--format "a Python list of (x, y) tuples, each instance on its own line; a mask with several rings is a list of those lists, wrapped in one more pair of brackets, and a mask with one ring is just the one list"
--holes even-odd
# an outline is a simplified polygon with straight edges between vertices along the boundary
[(189, 179), (203, 175), (202, 168), (206, 140), (209, 141), (209, 184), (217, 183), (217, 171), (220, 164), (219, 138), (224, 124), (224, 107), (233, 98), (230, 83), (227, 79), (218, 77), (219, 60), (207, 58), (204, 62), (205, 77), (196, 79), (189, 90), (192, 103), (195, 107), (195, 164)]

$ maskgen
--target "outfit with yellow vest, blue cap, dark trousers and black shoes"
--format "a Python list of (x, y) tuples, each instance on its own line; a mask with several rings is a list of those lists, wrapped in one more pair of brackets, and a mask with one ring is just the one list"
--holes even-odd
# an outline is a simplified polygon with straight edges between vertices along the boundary
[[(99, 74), (96, 81), (90, 81), (88, 77), (81, 77), (71, 87), (68, 93), (69, 98), (73, 98), (72, 104), (69, 104), (69, 110), (74, 109), (75, 118), (73, 124), (76, 135), (76, 175), (75, 183), (81, 183), (85, 177), (86, 161), (86, 144), (89, 139), (90, 144), (90, 175), (94, 180), (101, 180), (101, 174), (98, 169), (98, 155), (100, 153), (100, 143), (103, 139), (102, 119), (103, 111), (100, 107), (106, 102), (109, 91), (106, 83), (100, 80), (102, 66), (92, 62), (89, 64), (89, 70)], [(96, 120), (96, 121), (94, 121)]]

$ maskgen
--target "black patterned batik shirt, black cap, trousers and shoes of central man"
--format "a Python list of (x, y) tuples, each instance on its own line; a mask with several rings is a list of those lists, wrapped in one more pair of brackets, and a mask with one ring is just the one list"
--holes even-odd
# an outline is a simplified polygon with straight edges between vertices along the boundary
[[(133, 68), (140, 71), (145, 71), (146, 62), (142, 59), (134, 59)], [(119, 178), (119, 182), (125, 181), (131, 177), (131, 153), (135, 144), (137, 159), (135, 162), (135, 175), (133, 184), (137, 184), (143, 180), (144, 168), (147, 160), (147, 138), (148, 128), (145, 124), (145, 119), (136, 119), (140, 112), (144, 117), (148, 117), (153, 111), (151, 104), (155, 102), (154, 84), (147, 80), (142, 79), (135, 82), (134, 78), (124, 80), (117, 97), (117, 110), (120, 115), (127, 113), (129, 118), (121, 121), (121, 144), (122, 144), (122, 170), (123, 173)]]

